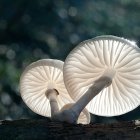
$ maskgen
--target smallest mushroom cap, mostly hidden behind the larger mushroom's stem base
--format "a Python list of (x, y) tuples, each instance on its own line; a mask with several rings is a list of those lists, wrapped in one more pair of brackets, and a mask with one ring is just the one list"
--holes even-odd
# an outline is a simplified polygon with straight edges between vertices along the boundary
[[(65, 104), (62, 108), (61, 111), (65, 110), (65, 109), (69, 109), (74, 103), (69, 103), (69, 104)], [(90, 123), (90, 113), (88, 112), (88, 110), (86, 108), (84, 108), (82, 110), (82, 112), (80, 113), (77, 123), (78, 124), (89, 124)]]

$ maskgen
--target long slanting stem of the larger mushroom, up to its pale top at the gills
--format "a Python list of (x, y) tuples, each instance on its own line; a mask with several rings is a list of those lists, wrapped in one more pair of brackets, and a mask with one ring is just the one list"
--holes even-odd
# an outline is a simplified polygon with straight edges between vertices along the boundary
[(104, 74), (93, 83), (86, 93), (69, 110), (65, 111), (68, 115), (65, 116), (68, 122), (75, 123), (77, 121), (79, 114), (86, 105), (105, 87), (110, 86), (115, 73), (116, 71), (113, 69), (105, 70)]

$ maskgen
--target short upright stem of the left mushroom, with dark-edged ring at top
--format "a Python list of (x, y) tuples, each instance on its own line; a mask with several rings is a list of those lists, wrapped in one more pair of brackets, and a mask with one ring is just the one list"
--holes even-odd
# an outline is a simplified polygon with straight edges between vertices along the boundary
[(53, 117), (56, 113), (59, 112), (59, 107), (58, 107), (58, 103), (57, 103), (58, 92), (55, 89), (48, 89), (46, 91), (45, 95), (50, 101), (51, 116)]

